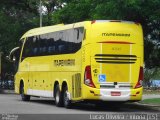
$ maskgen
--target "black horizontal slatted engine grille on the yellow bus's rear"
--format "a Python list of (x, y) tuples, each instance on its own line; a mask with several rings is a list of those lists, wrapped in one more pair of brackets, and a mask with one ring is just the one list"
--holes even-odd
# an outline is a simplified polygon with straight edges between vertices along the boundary
[(136, 55), (116, 55), (116, 54), (96, 54), (95, 60), (98, 63), (134, 64), (137, 60), (137, 56)]

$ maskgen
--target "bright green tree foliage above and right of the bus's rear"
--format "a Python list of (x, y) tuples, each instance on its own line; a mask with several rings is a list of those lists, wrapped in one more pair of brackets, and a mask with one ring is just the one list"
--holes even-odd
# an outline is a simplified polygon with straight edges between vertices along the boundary
[(53, 13), (54, 23), (83, 20), (128, 20), (142, 24), (145, 66), (160, 67), (160, 0), (62, 0), (67, 5)]

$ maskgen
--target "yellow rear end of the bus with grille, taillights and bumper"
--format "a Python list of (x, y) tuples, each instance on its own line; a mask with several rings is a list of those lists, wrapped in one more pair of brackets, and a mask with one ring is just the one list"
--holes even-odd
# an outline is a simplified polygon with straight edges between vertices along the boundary
[(84, 50), (83, 97), (103, 101), (142, 99), (143, 33), (138, 23), (92, 21)]

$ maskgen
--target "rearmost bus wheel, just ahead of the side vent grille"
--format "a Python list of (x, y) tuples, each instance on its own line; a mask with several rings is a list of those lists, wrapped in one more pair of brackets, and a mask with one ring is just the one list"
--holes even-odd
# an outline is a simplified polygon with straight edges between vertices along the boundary
[(65, 86), (63, 89), (63, 104), (64, 104), (64, 107), (71, 108), (71, 100), (69, 99), (69, 96), (68, 96), (67, 86)]

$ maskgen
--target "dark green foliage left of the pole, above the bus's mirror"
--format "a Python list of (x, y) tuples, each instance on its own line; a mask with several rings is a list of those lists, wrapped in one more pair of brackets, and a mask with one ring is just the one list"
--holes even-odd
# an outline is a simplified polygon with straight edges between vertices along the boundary
[[(33, 2), (33, 3), (31, 3)], [(10, 50), (19, 44), (19, 39), (28, 29), (39, 25), (33, 7), (34, 1), (5, 0), (0, 4), (0, 51), (2, 54), (2, 72), (13, 72), (13, 66), (6, 60)]]

